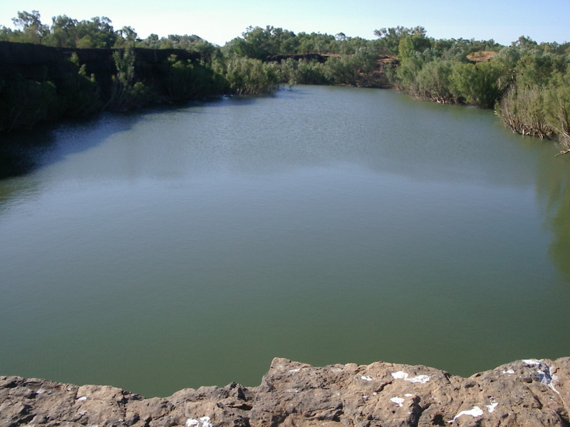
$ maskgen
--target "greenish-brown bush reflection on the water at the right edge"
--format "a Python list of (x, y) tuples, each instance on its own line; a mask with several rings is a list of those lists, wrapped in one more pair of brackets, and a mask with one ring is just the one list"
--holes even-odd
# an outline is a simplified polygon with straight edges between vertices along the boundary
[(544, 150), (539, 162), (537, 191), (546, 202), (546, 221), (554, 233), (549, 255), (570, 280), (570, 157)]

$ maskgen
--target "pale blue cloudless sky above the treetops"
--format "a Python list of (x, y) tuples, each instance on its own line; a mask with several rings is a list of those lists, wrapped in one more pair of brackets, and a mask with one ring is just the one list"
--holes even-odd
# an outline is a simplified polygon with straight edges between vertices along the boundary
[(18, 11), (33, 10), (47, 24), (57, 15), (107, 16), (115, 30), (131, 26), (140, 38), (196, 34), (219, 46), (268, 25), (368, 39), (375, 29), (420, 25), (434, 38), (570, 41), (570, 0), (2, 0), (0, 25), (14, 28)]

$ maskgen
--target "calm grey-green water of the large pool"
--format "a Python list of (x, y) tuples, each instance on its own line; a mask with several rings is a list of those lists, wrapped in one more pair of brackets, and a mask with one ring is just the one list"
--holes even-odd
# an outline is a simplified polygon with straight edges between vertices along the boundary
[(570, 157), (492, 112), (301, 86), (18, 138), (0, 374), (150, 397), (570, 355)]

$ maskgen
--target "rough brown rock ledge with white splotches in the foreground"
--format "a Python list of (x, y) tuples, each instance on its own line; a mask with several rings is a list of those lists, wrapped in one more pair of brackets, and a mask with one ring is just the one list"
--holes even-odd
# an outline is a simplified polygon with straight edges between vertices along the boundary
[(0, 376), (0, 427), (569, 426), (570, 358), (529, 359), (469, 378), (424, 366), (274, 359), (236, 383), (145, 399), (111, 386)]

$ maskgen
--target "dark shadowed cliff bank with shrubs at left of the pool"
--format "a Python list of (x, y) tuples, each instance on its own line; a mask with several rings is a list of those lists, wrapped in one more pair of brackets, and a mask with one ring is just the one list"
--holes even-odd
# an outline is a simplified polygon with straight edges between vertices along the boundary
[(223, 92), (200, 53), (182, 49), (55, 48), (0, 41), (0, 133), (101, 110)]

